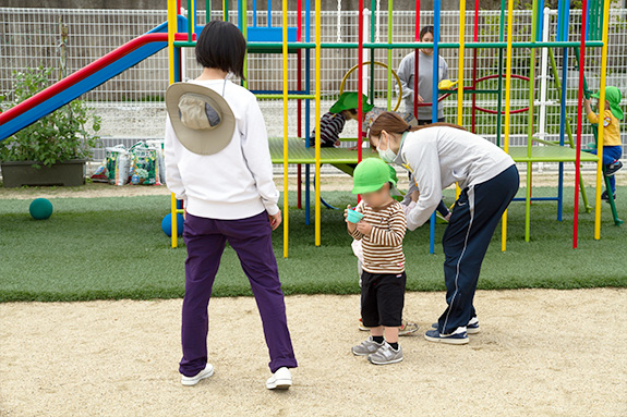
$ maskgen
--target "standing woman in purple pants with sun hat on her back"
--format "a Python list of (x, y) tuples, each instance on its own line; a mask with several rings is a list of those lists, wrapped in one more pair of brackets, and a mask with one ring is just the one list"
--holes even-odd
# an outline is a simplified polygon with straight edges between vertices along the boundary
[(228, 73), (243, 78), (245, 49), (237, 26), (209, 22), (196, 44), (201, 76), (172, 85), (166, 97), (166, 179), (168, 188), (184, 201), (188, 249), (179, 371), (184, 385), (214, 372), (207, 363), (207, 307), (228, 242), (249, 278), (262, 317), (273, 372), (266, 387), (287, 389), (291, 385), (288, 368), (296, 368), (297, 360), (272, 243), (272, 231), (281, 222), (279, 193), (256, 98), (227, 79)]

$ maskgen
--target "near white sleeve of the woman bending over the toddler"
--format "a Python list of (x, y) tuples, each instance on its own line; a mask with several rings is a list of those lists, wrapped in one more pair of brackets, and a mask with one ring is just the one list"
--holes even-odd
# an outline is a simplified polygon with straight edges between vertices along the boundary
[[(411, 154), (411, 155), (409, 155)], [(415, 230), (429, 220), (442, 200), (439, 157), (435, 140), (423, 140), (408, 152), (407, 162), (413, 169), (420, 197), (407, 216), (407, 229)]]

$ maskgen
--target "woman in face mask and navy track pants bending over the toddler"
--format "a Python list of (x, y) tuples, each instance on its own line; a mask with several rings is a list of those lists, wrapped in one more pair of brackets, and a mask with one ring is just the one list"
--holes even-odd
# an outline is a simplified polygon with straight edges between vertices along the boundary
[(468, 333), (479, 332), (472, 301), (481, 263), (518, 191), (516, 164), (499, 147), (463, 127), (448, 123), (411, 127), (389, 112), (374, 121), (370, 143), (384, 161), (407, 168), (415, 179), (420, 197), (407, 214), (409, 230), (429, 220), (444, 188), (455, 183), (461, 188), (442, 240), (448, 307), (425, 339), (468, 343)]

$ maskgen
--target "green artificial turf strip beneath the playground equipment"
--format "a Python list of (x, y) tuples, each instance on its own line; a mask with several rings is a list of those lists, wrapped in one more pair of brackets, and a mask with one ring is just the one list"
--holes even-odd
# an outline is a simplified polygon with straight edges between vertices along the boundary
[[(534, 196), (555, 188), (534, 188)], [(589, 191), (591, 193), (591, 191)], [(627, 218), (627, 187), (619, 187), (618, 213)], [(555, 203), (532, 206), (531, 242), (524, 242), (524, 205), (508, 210), (507, 252), (501, 252), (501, 228), (483, 262), (479, 287), (486, 290), (627, 286), (627, 224), (615, 226), (602, 203), (602, 240), (593, 238), (593, 213), (580, 213), (579, 248), (572, 249), (572, 188), (565, 188), (564, 221)], [(447, 192), (447, 201), (453, 195)], [(522, 195), (522, 191), (519, 193)], [(591, 194), (590, 194), (591, 195)], [(620, 199), (620, 196), (625, 196)], [(290, 195), (290, 203), (296, 196)], [(330, 204), (355, 203), (347, 192), (324, 193)], [(36, 221), (26, 199), (0, 200), (0, 302), (171, 298), (184, 293), (185, 249), (170, 248), (161, 232), (169, 197), (52, 198), (55, 213)], [(282, 207), (282, 206), (281, 206)], [(282, 258), (282, 226), (274, 247), (286, 294), (359, 292), (357, 258), (340, 211), (324, 209), (322, 246), (313, 244), (303, 210), (290, 209), (290, 257)], [(444, 290), (442, 234), (429, 254), (429, 228), (405, 240), (408, 290)], [(227, 248), (214, 286), (215, 296), (251, 295), (234, 252)]]

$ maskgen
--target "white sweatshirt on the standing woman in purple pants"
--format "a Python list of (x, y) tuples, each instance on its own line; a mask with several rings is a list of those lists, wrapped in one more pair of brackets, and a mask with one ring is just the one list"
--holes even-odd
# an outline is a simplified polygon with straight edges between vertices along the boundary
[(196, 155), (177, 138), (170, 119), (166, 123), (166, 183), (188, 212), (209, 219), (245, 219), (264, 210), (279, 211), (279, 192), (266, 125), (255, 96), (224, 79), (193, 81), (222, 94), (236, 116), (229, 145), (214, 155)]

